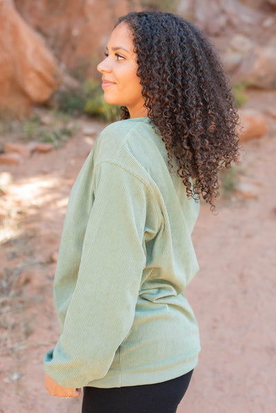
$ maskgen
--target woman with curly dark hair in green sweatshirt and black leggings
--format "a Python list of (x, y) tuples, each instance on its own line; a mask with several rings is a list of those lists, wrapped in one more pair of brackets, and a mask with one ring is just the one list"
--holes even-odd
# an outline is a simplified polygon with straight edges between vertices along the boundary
[(72, 188), (55, 276), (61, 336), (50, 394), (83, 413), (176, 412), (200, 350), (184, 289), (199, 196), (237, 161), (237, 112), (219, 60), (189, 21), (133, 12), (98, 66), (122, 121), (97, 138)]

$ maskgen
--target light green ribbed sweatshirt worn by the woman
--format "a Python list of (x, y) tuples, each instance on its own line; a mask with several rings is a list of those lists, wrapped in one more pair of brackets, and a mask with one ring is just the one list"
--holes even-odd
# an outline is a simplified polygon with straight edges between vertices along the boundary
[(147, 117), (99, 134), (73, 185), (54, 300), (61, 336), (44, 357), (64, 387), (158, 383), (197, 365), (197, 321), (184, 289), (198, 270), (199, 203), (169, 171)]

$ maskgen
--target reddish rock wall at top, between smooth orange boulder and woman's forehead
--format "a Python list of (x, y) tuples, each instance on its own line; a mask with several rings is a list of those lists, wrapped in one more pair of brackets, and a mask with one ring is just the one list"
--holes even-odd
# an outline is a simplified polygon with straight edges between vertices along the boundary
[(96, 66), (117, 18), (130, 8), (141, 8), (137, 0), (14, 0), (14, 4), (28, 24), (43, 33), (59, 61), (82, 78), (98, 75)]

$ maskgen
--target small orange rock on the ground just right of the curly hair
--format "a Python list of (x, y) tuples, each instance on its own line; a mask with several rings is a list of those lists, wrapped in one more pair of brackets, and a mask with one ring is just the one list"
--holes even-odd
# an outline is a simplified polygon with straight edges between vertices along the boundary
[(240, 109), (239, 117), (242, 125), (239, 133), (240, 141), (260, 138), (266, 134), (268, 128), (262, 113), (254, 109)]

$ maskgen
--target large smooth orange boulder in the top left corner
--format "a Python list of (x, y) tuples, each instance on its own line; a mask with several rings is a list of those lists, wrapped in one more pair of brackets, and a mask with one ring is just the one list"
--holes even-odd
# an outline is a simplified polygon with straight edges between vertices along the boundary
[(46, 102), (59, 88), (62, 72), (43, 39), (8, 0), (0, 0), (0, 109), (16, 116)]

